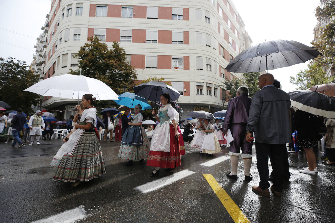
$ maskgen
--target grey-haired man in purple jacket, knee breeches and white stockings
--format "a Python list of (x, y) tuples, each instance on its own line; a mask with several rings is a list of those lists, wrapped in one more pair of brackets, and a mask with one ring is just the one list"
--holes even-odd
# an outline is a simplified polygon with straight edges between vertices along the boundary
[(252, 163), (252, 143), (246, 141), (246, 127), (251, 105), (251, 98), (248, 97), (248, 95), (248, 87), (239, 87), (237, 90), (237, 97), (229, 100), (222, 128), (224, 134), (227, 134), (229, 128), (232, 137), (234, 138), (234, 140), (230, 142), (229, 151), (231, 172), (226, 175), (228, 178), (234, 180), (237, 180), (237, 166), (241, 149), (244, 162), (244, 178), (248, 181), (252, 180), (252, 176), (250, 174)]

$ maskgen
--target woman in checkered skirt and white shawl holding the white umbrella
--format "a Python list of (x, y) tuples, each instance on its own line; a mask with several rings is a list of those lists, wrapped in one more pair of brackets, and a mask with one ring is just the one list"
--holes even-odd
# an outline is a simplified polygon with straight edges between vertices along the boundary
[[(105, 162), (102, 155), (98, 134), (95, 128), (96, 103), (95, 97), (85, 94), (82, 97), (83, 107), (87, 109), (82, 113), (80, 124), (68, 140), (67, 151), (59, 162), (54, 181), (72, 183), (69, 189), (75, 188), (81, 182), (87, 182), (106, 173)], [(80, 106), (76, 105), (80, 110)]]

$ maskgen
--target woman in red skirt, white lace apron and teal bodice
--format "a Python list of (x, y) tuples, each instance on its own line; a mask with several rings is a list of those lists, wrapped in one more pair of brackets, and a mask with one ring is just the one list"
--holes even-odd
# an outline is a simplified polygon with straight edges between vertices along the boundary
[(181, 165), (181, 152), (178, 131), (179, 122), (178, 112), (169, 104), (171, 101), (169, 94), (160, 95), (162, 106), (158, 109), (158, 116), (155, 111), (152, 115), (159, 121), (152, 136), (148, 166), (154, 166), (151, 177), (158, 175), (159, 168), (166, 168), (170, 171)]

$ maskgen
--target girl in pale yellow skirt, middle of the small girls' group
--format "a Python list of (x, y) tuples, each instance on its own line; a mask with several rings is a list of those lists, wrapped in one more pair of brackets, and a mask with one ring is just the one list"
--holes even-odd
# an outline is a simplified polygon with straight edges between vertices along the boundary
[(216, 135), (213, 133), (214, 128), (213, 125), (210, 123), (209, 119), (204, 120), (205, 125), (202, 125), (204, 129), (204, 137), (202, 138), (201, 143), (201, 152), (208, 153), (213, 155), (213, 153), (221, 152), (221, 147), (219, 141), (216, 138)]

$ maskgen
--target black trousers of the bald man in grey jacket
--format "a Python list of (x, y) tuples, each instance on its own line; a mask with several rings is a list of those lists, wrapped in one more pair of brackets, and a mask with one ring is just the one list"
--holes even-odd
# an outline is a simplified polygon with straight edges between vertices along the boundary
[(281, 192), (283, 190), (283, 172), (284, 172), (284, 152), (286, 150), (285, 144), (268, 144), (256, 142), (256, 158), (257, 169), (259, 173), (259, 187), (266, 190), (270, 187), (269, 184), (269, 156), (272, 158), (273, 170), (273, 189)]

